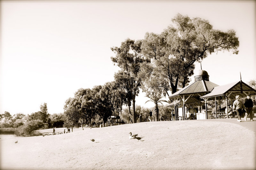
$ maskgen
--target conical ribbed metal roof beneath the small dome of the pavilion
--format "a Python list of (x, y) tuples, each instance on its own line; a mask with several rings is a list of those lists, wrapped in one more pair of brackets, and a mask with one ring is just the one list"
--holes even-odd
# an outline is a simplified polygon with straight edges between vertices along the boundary
[(195, 81), (194, 83), (180, 89), (179, 91), (173, 93), (169, 98), (178, 96), (178, 95), (185, 95), (185, 94), (199, 94), (199, 93), (205, 93), (210, 92), (214, 87), (217, 87), (219, 85), (211, 82), (211, 81)]

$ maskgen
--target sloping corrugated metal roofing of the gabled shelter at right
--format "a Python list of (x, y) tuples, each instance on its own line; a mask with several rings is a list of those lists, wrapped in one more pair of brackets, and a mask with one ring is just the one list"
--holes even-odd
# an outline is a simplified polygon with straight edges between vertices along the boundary
[[(244, 90), (252, 90), (250, 92), (254, 92), (253, 94), (256, 94), (256, 90), (252, 89), (250, 86), (248, 86), (247, 84), (245, 84), (242, 81), (243, 84), (243, 89)], [(225, 95), (229, 90), (240, 90), (240, 81), (236, 81), (233, 83), (229, 83), (223, 86), (218, 86), (218, 87), (214, 87), (214, 89), (211, 91), (211, 93), (208, 93), (204, 96), (202, 96), (201, 98), (208, 98), (208, 97), (214, 97), (214, 96), (223, 96)], [(250, 94), (252, 94), (250, 93)]]

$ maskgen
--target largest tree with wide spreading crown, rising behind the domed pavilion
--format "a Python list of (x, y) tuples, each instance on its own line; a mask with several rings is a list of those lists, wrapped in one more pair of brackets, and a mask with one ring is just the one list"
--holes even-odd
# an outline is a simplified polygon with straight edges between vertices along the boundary
[(161, 34), (146, 33), (142, 43), (143, 54), (154, 59), (164, 88), (169, 85), (172, 93), (177, 91), (179, 83), (185, 87), (196, 61), (218, 51), (238, 53), (239, 41), (234, 30), (216, 30), (208, 20), (181, 14), (172, 23)]

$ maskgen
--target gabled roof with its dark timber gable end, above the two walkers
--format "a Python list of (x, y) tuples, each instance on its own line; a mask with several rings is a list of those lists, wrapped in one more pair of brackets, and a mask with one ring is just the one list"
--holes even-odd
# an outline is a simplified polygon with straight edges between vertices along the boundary
[[(251, 95), (256, 95), (256, 90), (250, 87), (249, 85), (245, 84), (243, 81), (242, 82), (242, 89), (244, 92), (247, 94), (250, 93)], [(241, 86), (240, 86), (240, 81), (236, 81), (233, 83), (229, 83), (223, 86), (218, 86), (214, 87), (212, 91), (201, 98), (211, 98), (211, 97), (216, 97), (216, 96), (224, 96), (228, 92), (230, 93), (230, 97), (235, 98), (236, 95), (240, 95), (242, 97), (246, 97), (246, 94), (241, 93)]]

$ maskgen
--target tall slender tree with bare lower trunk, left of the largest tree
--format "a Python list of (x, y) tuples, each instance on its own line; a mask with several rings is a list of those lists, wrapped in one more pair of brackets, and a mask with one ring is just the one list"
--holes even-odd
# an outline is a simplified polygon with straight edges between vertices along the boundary
[(133, 123), (136, 123), (135, 98), (139, 94), (142, 79), (146, 76), (142, 74), (141, 67), (149, 62), (141, 53), (141, 43), (141, 40), (134, 41), (126, 39), (121, 43), (120, 47), (111, 48), (111, 50), (116, 53), (116, 56), (111, 57), (111, 60), (121, 68), (129, 86), (132, 98)]

